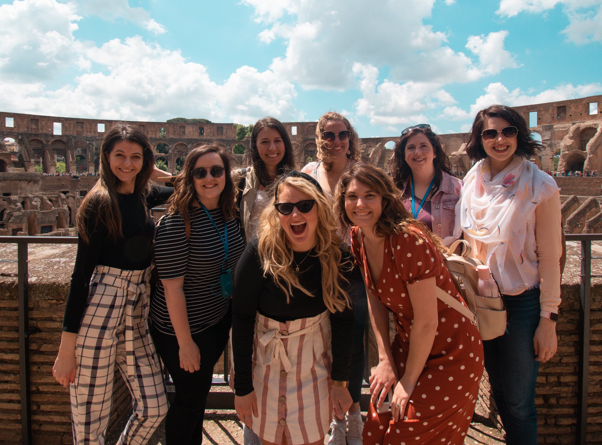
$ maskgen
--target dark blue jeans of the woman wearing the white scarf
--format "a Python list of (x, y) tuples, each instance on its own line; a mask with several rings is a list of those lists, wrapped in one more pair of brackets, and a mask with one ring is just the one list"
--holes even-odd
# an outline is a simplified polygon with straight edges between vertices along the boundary
[(506, 430), (507, 445), (537, 444), (533, 336), (539, 326), (539, 287), (519, 295), (503, 295), (508, 312), (506, 332), (483, 342), (485, 369)]

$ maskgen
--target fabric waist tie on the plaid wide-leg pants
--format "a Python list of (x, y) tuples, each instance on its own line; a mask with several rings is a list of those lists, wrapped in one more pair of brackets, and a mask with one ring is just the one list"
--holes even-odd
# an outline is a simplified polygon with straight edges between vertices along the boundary
[[(150, 336), (150, 331), (147, 323), (147, 309), (148, 309), (148, 292), (146, 283), (148, 282), (151, 274), (151, 268), (146, 268), (143, 271), (135, 271), (134, 275), (140, 274), (143, 277), (143, 281), (140, 284), (133, 283), (128, 277), (122, 277), (120, 275), (112, 273), (113, 271), (120, 271), (116, 268), (108, 268), (106, 266), (98, 266), (98, 274), (92, 280), (92, 283), (101, 283), (105, 286), (116, 287), (117, 289), (123, 289), (128, 291), (128, 296), (125, 304), (125, 360), (128, 370), (128, 375), (135, 376), (135, 354), (134, 354), (134, 326), (140, 322), (144, 323), (144, 334), (147, 337)], [(129, 272), (129, 271), (128, 271)], [(134, 311), (140, 302), (140, 310)], [(149, 363), (155, 369), (158, 369), (157, 363), (154, 359), (154, 354), (149, 351), (149, 346), (152, 344), (150, 338), (144, 342), (144, 353), (146, 354)]]

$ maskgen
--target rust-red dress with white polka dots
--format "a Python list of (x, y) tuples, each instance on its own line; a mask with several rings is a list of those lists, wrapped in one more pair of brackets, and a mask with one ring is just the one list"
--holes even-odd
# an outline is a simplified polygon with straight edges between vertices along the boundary
[[(401, 233), (385, 241), (380, 277), (371, 277), (357, 229), (352, 231), (353, 254), (364, 271), (367, 288), (393, 313), (396, 336), (391, 344), (399, 378), (402, 378), (412, 341), (414, 311), (408, 284), (435, 278), (436, 285), (459, 301), (461, 296), (449, 272), (423, 232)], [(393, 252), (391, 251), (393, 246)], [(483, 345), (476, 326), (461, 313), (437, 299), (438, 327), (424, 371), (410, 397), (406, 417), (394, 422), (391, 413), (377, 413), (370, 404), (364, 425), (364, 444), (461, 445), (473, 417), (483, 374)]]

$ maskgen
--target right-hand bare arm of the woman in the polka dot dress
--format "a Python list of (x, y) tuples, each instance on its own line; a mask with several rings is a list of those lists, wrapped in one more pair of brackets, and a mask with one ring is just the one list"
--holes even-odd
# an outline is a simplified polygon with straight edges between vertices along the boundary
[(424, 364), (433, 347), (438, 326), (437, 298), (435, 296), (435, 278), (408, 284), (408, 295), (414, 310), (412, 334), (406, 361), (405, 373), (395, 387), (391, 400), (391, 414), (396, 422), (405, 413), (408, 400), (414, 392)]

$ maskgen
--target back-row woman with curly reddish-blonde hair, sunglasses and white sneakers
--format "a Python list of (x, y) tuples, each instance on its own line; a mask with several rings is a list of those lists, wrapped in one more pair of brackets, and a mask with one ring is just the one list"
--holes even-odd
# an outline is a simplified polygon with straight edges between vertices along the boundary
[[(301, 171), (317, 180), (330, 198), (341, 175), (357, 161), (361, 161), (361, 144), (355, 128), (342, 114), (329, 111), (320, 117), (315, 128), (318, 161), (310, 162)], [(349, 245), (349, 227), (341, 227), (339, 234)], [(368, 302), (364, 281), (358, 268), (353, 272), (356, 292), (350, 295), (355, 310), (353, 358), (349, 376), (349, 393), (353, 404), (344, 417), (332, 419), (329, 445), (361, 445), (364, 421), (359, 410), (364, 381), (364, 334), (368, 321)]]

